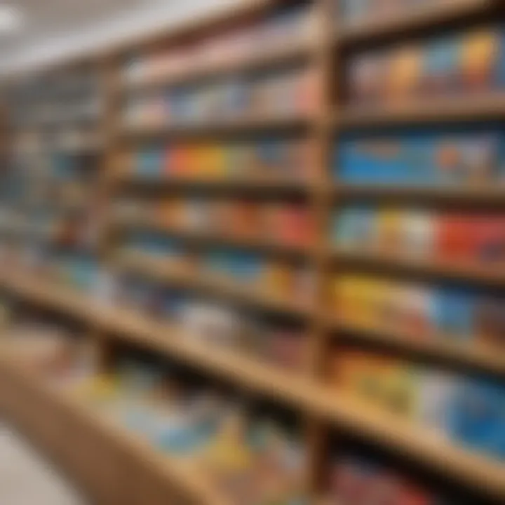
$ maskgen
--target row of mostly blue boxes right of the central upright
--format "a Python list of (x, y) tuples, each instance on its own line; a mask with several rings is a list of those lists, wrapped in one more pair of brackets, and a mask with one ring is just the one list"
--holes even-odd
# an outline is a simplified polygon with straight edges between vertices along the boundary
[(335, 149), (335, 178), (349, 184), (452, 187), (505, 182), (499, 130), (412, 130), (346, 137)]

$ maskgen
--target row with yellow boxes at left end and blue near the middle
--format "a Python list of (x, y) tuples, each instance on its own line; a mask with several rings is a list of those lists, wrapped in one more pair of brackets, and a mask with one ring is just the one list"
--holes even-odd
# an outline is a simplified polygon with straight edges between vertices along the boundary
[(340, 276), (334, 289), (337, 313), (358, 328), (505, 346), (504, 297), (366, 275)]

